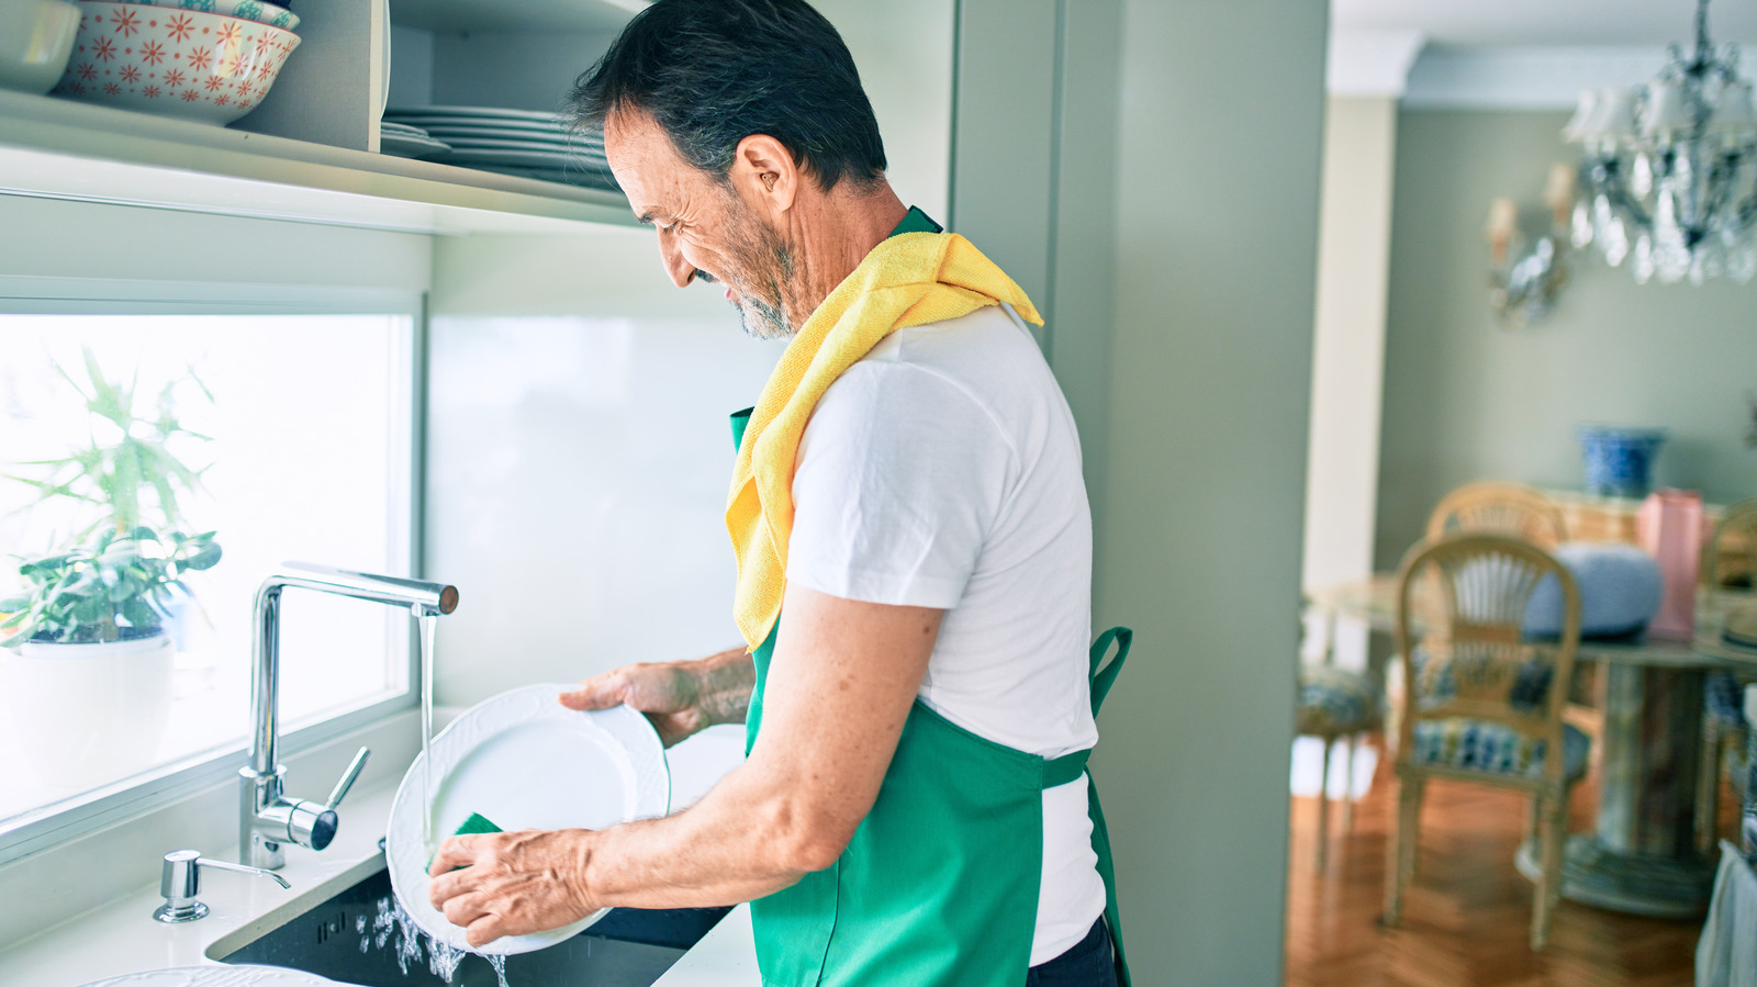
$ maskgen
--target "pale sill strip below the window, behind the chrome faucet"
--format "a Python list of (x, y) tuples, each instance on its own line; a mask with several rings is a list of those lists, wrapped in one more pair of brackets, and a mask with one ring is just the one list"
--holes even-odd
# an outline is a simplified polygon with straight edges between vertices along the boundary
[[(420, 711), (392, 713), (283, 759), (288, 792), (322, 797), (362, 745), (372, 748), (372, 759), (360, 789), (395, 785), (420, 753)], [(170, 850), (195, 848), (235, 859), (237, 813), (239, 783), (227, 778), (172, 804), (0, 866), (0, 950), (156, 883), (160, 861)], [(346, 804), (339, 815), (346, 831)], [(378, 836), (381, 832), (372, 839)]]

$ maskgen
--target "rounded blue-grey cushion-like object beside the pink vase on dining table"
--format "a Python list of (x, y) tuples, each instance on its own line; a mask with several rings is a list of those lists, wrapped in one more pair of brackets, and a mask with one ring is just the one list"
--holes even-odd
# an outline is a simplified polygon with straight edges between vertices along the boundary
[[(1569, 541), (1555, 546), (1557, 562), (1567, 566), (1580, 587), (1580, 636), (1623, 638), (1639, 634), (1659, 613), (1664, 587), (1659, 562), (1618, 541)], [(1562, 585), (1544, 576), (1525, 606), (1525, 634), (1562, 634)]]

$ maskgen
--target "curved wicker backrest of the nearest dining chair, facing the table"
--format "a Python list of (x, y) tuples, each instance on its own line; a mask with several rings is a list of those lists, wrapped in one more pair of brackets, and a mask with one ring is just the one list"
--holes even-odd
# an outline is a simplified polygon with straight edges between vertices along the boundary
[[(1562, 590), (1562, 636), (1529, 641), (1525, 609), (1544, 580)], [(1548, 551), (1500, 534), (1457, 534), (1409, 550), (1397, 583), (1404, 662), (1399, 757), (1421, 720), (1467, 717), (1546, 741), (1544, 782), (1564, 776), (1562, 710), (1580, 646), (1580, 590)]]

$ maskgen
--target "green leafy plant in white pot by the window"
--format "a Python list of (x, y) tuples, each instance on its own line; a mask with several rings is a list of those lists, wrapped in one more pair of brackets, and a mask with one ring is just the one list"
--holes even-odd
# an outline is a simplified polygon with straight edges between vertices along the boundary
[[(200, 471), (170, 446), (207, 437), (177, 421), (176, 383), (160, 392), (153, 416), (139, 416), (135, 386), (107, 381), (84, 357), (90, 393), (61, 376), (84, 399), (93, 439), (63, 458), (26, 464), (42, 467), (40, 478), (9, 479), (35, 486), (37, 502), (97, 508), (95, 518), (54, 551), (23, 558), (23, 592), (0, 601), (7, 718), (26, 760), (56, 787), (98, 785), (156, 760), (176, 655), (169, 629), (192, 599), (183, 576), (221, 555), (214, 532), (177, 527), (177, 495), (200, 488)], [(149, 508), (158, 529), (142, 523)]]

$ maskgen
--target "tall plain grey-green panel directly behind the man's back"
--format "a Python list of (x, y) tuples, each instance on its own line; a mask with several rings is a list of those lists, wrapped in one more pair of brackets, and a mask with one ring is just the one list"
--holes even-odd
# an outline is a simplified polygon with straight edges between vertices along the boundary
[(959, 0), (952, 223), (1049, 313), (1135, 982), (1281, 983), (1321, 0)]

